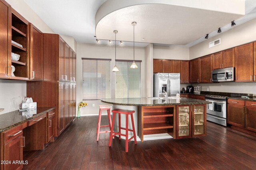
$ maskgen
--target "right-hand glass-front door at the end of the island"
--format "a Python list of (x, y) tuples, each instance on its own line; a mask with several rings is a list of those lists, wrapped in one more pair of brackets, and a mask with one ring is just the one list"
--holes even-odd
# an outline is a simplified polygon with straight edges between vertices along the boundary
[(206, 105), (192, 106), (192, 137), (206, 135)]

